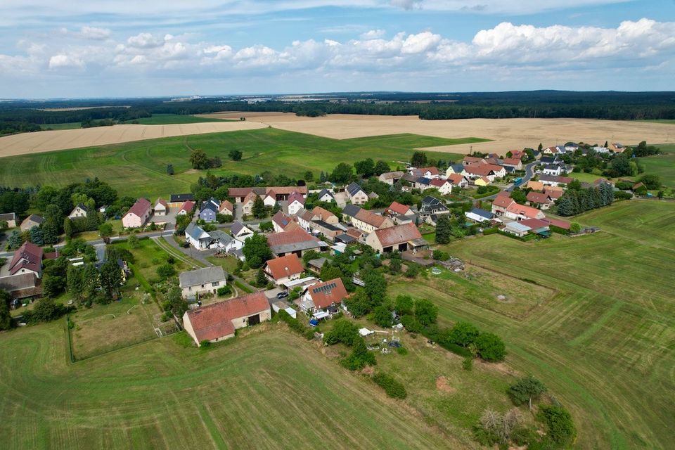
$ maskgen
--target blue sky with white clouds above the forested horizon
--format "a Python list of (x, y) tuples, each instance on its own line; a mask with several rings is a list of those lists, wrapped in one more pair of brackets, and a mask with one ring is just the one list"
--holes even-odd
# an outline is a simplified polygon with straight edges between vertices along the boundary
[(675, 90), (675, 0), (0, 2), (0, 98)]

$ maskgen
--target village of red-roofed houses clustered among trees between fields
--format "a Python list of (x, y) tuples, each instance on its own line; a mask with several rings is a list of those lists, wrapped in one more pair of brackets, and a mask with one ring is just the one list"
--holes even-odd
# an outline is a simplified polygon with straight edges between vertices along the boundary
[[(297, 186), (231, 187), (221, 199), (197, 200), (193, 193), (170, 193), (167, 200), (158, 198), (154, 203), (139, 198), (123, 215), (117, 213), (120, 236), (99, 232), (96, 237), (100, 239), (92, 241), (96, 249), (93, 260), (101, 269), (107, 259), (107, 244), (129, 239), (127, 236), (148, 236), (166, 237), (177, 254), (205, 262), (203, 268), (176, 274), (188, 306), (179, 316), (174, 314), (174, 320), (198, 346), (232, 338), (238, 328), (269, 321), (272, 311), (286, 311), (294, 319), (300, 314), (310, 326), (317, 326), (336, 314), (350, 314), (348, 299), (355, 288), (364, 285), (358, 271), (348, 278), (345, 274), (323, 276), (330, 273), (323, 271), (324, 266), (330, 266), (338, 256), (355, 261), (367, 250), (383, 261), (392, 257), (401, 260), (406, 267), (440, 265), (458, 271), (463, 268), (461, 260), (451, 255), (441, 258), (433, 251), (435, 244), (447, 243), (451, 236), (502, 233), (536, 240), (551, 233), (594, 231), (581, 230), (557, 214), (547, 215), (568, 186), (579, 184), (570, 176), (574, 167), (565, 155), (589, 151), (614, 155), (622, 150), (620, 144), (580, 147), (570, 142), (543, 150), (513, 150), (503, 156), (468, 155), (445, 167), (406, 164), (401, 170), (375, 174), (371, 180), (388, 186), (396, 195), (416, 195), (405, 198), (418, 198), (418, 202), (409, 201), (413, 204), (408, 205), (393, 200), (380, 208), (373, 207), (373, 200), (380, 195), (368, 191), (363, 181), (344, 185), (325, 181), (311, 189), (304, 182)], [(619, 191), (603, 178), (579, 187), (596, 189), (602, 198)], [(106, 208), (110, 207), (79, 202), (66, 221), (80, 224), (91, 217), (100, 219)], [(43, 251), (31, 242), (31, 233), (39, 231), (45, 221), (39, 214), (30, 214), (23, 221), (15, 214), (3, 214), (0, 219), (8, 229), (27, 236), (20, 248), (6, 254), (11, 257), (0, 270), (0, 289), (11, 295), (13, 307), (20, 308), (41, 296), (43, 262), (59, 257), (59, 245)], [(18, 236), (18, 231), (13, 236)], [(214, 260), (236, 264), (219, 265)], [(84, 252), (69, 255), (68, 264), (83, 266)], [(131, 274), (127, 262), (120, 258), (113, 265), (123, 285)], [(233, 273), (224, 266), (234, 269)], [(234, 278), (241, 275), (243, 267), (248, 274), (256, 274), (251, 269), (259, 271), (248, 279)], [(228, 285), (235, 279), (247, 287), (237, 292), (248, 292), (246, 295), (231, 298)], [(229, 298), (220, 299), (219, 293)], [(392, 314), (396, 317), (395, 311)]]

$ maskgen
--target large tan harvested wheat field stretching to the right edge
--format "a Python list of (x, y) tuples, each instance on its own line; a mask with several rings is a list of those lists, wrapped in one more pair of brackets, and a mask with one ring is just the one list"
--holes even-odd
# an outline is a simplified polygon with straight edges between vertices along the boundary
[(626, 145), (647, 141), (675, 141), (675, 124), (591, 119), (461, 119), (420, 120), (416, 116), (327, 115), (297, 117), (293, 113), (214, 113), (219, 119), (246, 117), (275, 128), (316, 134), (333, 139), (350, 139), (385, 134), (412, 133), (442, 138), (476, 136), (492, 142), (425, 148), (425, 150), (468, 153), (470, 148), (499, 153), (525, 147), (554, 146), (567, 141)]

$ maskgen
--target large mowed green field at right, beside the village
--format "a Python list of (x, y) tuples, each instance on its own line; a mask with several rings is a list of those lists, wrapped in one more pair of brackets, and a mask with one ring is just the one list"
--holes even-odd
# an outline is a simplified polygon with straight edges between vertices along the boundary
[[(570, 409), (581, 449), (669, 449), (675, 439), (675, 205), (635, 200), (577, 218), (603, 230), (522, 243), (491, 235), (444, 246), (456, 257), (558, 290), (522, 319), (430, 281), (442, 323), (468, 320), (507, 342), (507, 364)], [(444, 287), (444, 286), (442, 286)]]

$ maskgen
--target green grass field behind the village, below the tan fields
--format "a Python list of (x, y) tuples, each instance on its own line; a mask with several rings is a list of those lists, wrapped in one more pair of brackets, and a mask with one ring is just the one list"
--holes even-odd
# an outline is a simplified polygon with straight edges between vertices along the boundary
[[(414, 134), (336, 140), (279, 129), (231, 131), (2, 158), (0, 180), (4, 186), (65, 186), (98, 176), (120, 195), (157, 198), (189, 191), (190, 185), (206, 174), (191, 169), (192, 148), (221, 158), (223, 167), (213, 169), (214, 174), (269, 171), (302, 178), (311, 170), (318, 178), (321, 170), (330, 172), (339, 162), (383, 159), (393, 168), (397, 161), (408, 161), (414, 148), (471, 141), (482, 140)], [(243, 160), (229, 161), (228, 153), (233, 149), (243, 151)], [(430, 158), (456, 160), (462, 155), (430, 152)], [(174, 176), (167, 174), (168, 164), (174, 166)]]

